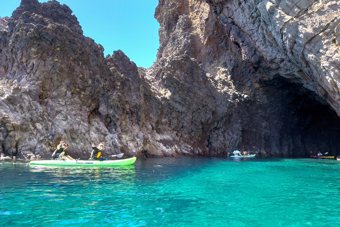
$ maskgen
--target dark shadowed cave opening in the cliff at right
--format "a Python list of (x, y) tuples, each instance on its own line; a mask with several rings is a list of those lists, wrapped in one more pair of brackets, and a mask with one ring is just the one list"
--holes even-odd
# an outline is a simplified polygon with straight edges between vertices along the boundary
[(283, 77), (267, 83), (264, 90), (273, 103), (271, 113), (282, 119), (276, 132), (280, 156), (309, 157), (318, 151), (340, 155), (340, 117), (324, 99)]

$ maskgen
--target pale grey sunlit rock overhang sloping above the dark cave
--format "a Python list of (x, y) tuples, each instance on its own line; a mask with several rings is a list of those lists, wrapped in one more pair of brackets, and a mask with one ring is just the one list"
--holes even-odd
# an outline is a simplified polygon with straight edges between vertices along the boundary
[[(269, 69), (294, 78), (339, 115), (339, 1), (215, 1), (220, 22), (232, 21)], [(242, 48), (242, 53), (244, 52)], [(245, 54), (246, 55), (246, 54)]]

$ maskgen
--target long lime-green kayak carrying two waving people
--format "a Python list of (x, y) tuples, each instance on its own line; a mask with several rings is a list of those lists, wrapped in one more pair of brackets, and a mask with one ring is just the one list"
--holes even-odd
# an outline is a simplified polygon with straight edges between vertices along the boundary
[(37, 160), (31, 161), (30, 165), (77, 165), (77, 166), (115, 166), (115, 165), (131, 165), (136, 161), (136, 157), (121, 160), (105, 160), (105, 161), (65, 161), (65, 160)]

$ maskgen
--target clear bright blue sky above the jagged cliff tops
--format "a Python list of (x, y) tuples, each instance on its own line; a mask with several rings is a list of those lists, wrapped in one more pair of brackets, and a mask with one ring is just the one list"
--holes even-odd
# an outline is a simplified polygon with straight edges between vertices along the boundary
[[(10, 17), (21, 0), (1, 2), (0, 16)], [(44, 2), (39, 0), (39, 2)], [(137, 66), (150, 67), (159, 47), (158, 0), (60, 0), (78, 18), (84, 35), (100, 43), (104, 55), (122, 50)]]

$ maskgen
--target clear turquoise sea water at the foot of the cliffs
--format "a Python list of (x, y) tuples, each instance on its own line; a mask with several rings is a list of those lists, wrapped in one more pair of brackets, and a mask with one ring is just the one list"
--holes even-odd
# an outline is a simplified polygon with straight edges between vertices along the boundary
[(0, 161), (1, 226), (340, 226), (340, 162), (189, 157), (134, 165)]

